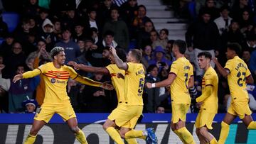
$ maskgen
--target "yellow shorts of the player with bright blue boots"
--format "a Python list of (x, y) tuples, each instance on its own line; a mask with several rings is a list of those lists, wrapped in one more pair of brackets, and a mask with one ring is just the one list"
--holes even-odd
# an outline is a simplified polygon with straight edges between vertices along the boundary
[(143, 106), (127, 106), (125, 104), (119, 104), (107, 118), (114, 121), (119, 127), (134, 128), (139, 116), (142, 115), (142, 110)]

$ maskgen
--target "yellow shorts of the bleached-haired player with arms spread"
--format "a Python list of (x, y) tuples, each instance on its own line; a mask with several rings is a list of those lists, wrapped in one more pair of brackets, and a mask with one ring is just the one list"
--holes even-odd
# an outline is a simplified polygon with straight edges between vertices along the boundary
[(34, 119), (38, 121), (45, 121), (48, 123), (54, 113), (58, 113), (63, 121), (68, 121), (70, 118), (75, 118), (75, 111), (71, 104), (43, 104), (36, 112)]

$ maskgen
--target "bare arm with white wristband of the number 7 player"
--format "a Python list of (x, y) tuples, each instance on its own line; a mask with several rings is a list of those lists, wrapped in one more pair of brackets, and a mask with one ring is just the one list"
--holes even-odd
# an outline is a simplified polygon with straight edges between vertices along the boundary
[(146, 87), (149, 89), (154, 88), (154, 87), (166, 87), (166, 86), (171, 85), (174, 82), (175, 78), (176, 78), (176, 74), (171, 73), (171, 74), (169, 74), (168, 79), (165, 79), (161, 82), (157, 82), (157, 83), (153, 83), (153, 84), (147, 82)]

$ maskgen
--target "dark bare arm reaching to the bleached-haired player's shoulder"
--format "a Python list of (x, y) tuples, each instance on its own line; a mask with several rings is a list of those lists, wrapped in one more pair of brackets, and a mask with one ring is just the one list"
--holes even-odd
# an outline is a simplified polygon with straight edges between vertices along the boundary
[(72, 65), (75, 68), (75, 70), (79, 69), (85, 72), (92, 72), (92, 73), (105, 74), (105, 75), (110, 74), (110, 72), (105, 67), (92, 67), (89, 65), (77, 64), (76, 62), (73, 62), (73, 61), (68, 62), (68, 65)]

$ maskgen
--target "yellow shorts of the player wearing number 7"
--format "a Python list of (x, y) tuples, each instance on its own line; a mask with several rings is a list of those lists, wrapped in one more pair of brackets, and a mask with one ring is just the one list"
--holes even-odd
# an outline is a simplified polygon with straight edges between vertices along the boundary
[(174, 104), (171, 103), (171, 121), (178, 123), (179, 120), (186, 121), (186, 113), (188, 112), (190, 104)]

